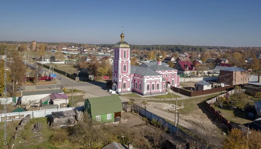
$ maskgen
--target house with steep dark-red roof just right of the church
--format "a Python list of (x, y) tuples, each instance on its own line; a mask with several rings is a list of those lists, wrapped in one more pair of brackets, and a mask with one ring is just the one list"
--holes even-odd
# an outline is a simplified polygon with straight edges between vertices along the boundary
[(174, 66), (174, 69), (177, 69), (177, 74), (186, 74), (186, 76), (195, 75), (197, 69), (194, 67), (194, 64), (190, 61), (178, 61)]

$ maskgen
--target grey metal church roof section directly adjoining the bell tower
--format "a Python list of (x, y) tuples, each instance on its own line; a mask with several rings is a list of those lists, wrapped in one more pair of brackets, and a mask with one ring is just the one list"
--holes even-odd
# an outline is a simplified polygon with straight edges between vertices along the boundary
[(135, 66), (131, 65), (131, 74), (137, 74), (140, 76), (159, 76), (160, 73), (153, 71), (149, 67), (141, 67), (141, 66)]

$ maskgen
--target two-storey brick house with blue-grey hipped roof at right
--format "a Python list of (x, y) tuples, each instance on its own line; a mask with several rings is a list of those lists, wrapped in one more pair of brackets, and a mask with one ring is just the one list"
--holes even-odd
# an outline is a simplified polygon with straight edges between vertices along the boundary
[(247, 70), (239, 67), (227, 67), (220, 70), (219, 83), (226, 85), (246, 84), (247, 77)]

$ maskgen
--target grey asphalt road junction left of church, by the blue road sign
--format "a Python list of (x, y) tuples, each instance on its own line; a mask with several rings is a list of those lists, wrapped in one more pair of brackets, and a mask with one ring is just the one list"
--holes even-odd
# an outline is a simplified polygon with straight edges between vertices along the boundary
[[(23, 60), (23, 63), (25, 63), (25, 60)], [(35, 67), (36, 64), (33, 64), (31, 62), (26, 61), (26, 65), (29, 65), (30, 67)], [(49, 71), (46, 68), (43, 68), (47, 71)], [(61, 77), (61, 79), (60, 79)], [(30, 86), (21, 86), (20, 89), (23, 91), (35, 91), (35, 90), (54, 90), (55, 86), (56, 89), (60, 89), (61, 86), (63, 87), (69, 87), (72, 88), (72, 82), (74, 89), (83, 90), (86, 93), (84, 94), (86, 97), (97, 97), (97, 96), (108, 96), (110, 95), (106, 90), (106, 82), (102, 81), (94, 81), (94, 82), (81, 82), (81, 81), (74, 81), (71, 78), (68, 78), (64, 75), (61, 75), (57, 73), (56, 78), (56, 85), (55, 84), (49, 84), (49, 85), (30, 85)]]

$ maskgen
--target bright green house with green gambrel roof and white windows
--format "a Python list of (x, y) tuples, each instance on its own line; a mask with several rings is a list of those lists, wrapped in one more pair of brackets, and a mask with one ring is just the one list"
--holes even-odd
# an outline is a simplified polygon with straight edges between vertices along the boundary
[(108, 122), (121, 121), (122, 103), (118, 95), (85, 99), (84, 110), (92, 119)]

